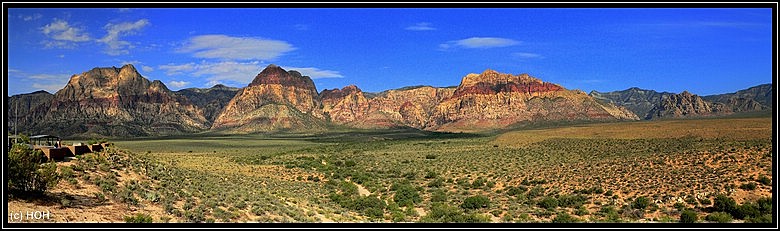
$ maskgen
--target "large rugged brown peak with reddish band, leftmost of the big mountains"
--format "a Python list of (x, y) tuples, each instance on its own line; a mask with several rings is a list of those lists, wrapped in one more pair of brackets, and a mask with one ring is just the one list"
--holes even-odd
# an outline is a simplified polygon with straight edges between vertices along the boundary
[(127, 64), (73, 75), (33, 130), (127, 137), (197, 132), (207, 128), (205, 123), (186, 98), (158, 80), (150, 82)]

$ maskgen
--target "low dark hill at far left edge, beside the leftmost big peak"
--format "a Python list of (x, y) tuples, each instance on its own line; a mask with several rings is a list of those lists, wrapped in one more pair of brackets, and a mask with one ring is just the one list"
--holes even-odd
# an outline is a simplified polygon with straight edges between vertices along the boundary
[(49, 105), (54, 95), (46, 91), (36, 91), (29, 94), (14, 95), (8, 98), (6, 105), (8, 118), (8, 130), (23, 134), (31, 134), (37, 131), (30, 128), (46, 116)]

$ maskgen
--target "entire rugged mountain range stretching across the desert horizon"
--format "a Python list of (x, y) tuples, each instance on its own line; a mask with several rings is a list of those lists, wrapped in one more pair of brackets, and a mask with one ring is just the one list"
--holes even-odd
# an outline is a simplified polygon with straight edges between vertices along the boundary
[(629, 88), (590, 94), (528, 74), (485, 70), (457, 87), (413, 86), (379, 93), (349, 85), (317, 91), (308, 76), (269, 65), (243, 88), (169, 90), (134, 66), (73, 75), (50, 94), (9, 98), (9, 131), (63, 137), (324, 132), (331, 128), (414, 128), (480, 132), (539, 121), (633, 121), (770, 110), (763, 84), (700, 97)]

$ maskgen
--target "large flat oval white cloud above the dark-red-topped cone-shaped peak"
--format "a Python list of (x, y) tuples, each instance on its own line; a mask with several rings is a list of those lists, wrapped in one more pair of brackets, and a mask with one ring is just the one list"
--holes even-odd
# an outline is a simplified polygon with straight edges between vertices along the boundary
[(271, 60), (295, 49), (280, 40), (217, 34), (192, 37), (179, 52), (194, 52), (199, 58)]

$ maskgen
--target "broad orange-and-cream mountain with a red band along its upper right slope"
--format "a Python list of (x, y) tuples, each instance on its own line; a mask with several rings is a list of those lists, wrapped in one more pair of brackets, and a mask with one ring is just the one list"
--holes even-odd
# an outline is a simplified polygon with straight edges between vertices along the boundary
[(473, 131), (522, 121), (637, 119), (633, 113), (599, 103), (581, 91), (569, 91), (527, 74), (486, 70), (464, 77), (453, 95), (436, 106), (426, 128)]

